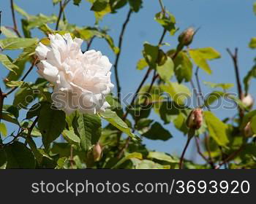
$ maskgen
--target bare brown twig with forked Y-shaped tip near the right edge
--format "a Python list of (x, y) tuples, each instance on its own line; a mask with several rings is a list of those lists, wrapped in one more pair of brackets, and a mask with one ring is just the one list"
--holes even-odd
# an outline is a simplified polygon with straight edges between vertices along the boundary
[[(233, 60), (235, 73), (236, 73), (236, 84), (238, 87), (238, 96), (239, 96), (239, 99), (242, 100), (244, 98), (244, 93), (241, 86), (240, 74), (239, 74), (239, 68), (238, 68), (238, 48), (236, 47), (234, 54), (230, 51), (230, 49), (227, 48), (227, 53), (230, 55), (230, 57)], [(244, 117), (244, 110), (238, 106), (238, 111), (241, 119), (242, 117)]]

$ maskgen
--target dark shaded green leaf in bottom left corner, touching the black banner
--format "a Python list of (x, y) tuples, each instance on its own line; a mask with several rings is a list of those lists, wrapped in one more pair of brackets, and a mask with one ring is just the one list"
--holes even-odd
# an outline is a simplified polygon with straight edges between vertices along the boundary
[(4, 146), (7, 168), (35, 168), (36, 161), (31, 150), (20, 142)]

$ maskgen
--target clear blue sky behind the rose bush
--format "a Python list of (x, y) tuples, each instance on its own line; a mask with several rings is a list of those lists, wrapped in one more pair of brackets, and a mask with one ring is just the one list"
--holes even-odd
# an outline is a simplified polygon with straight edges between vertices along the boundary
[[(180, 28), (178, 34), (190, 26), (200, 27), (200, 31), (195, 36), (195, 40), (190, 47), (214, 47), (222, 54), (222, 58), (210, 63), (213, 74), (208, 75), (200, 71), (200, 80), (202, 82), (235, 82), (233, 63), (229, 55), (227, 55), (227, 47), (232, 50), (235, 47), (239, 49), (238, 63), (241, 76), (245, 76), (249, 69), (252, 68), (255, 51), (249, 49), (248, 43), (256, 34), (256, 16), (252, 12), (254, 0), (163, 0), (163, 2), (165, 7), (176, 17), (177, 26)], [(57, 14), (59, 11), (58, 6), (52, 6), (51, 0), (16, 0), (15, 3), (31, 15), (37, 15), (39, 12), (51, 15), (53, 13)], [(74, 23), (78, 26), (93, 26), (94, 14), (89, 11), (89, 8), (90, 4), (85, 0), (82, 0), (80, 7), (69, 4), (66, 9), (69, 23)], [(1, 2), (0, 9), (3, 11), (2, 25), (12, 26), (10, 2), (7, 0)], [(134, 93), (145, 74), (145, 71), (136, 70), (136, 63), (142, 56), (143, 42), (157, 44), (162, 34), (162, 27), (154, 21), (154, 15), (159, 11), (160, 7), (157, 0), (144, 0), (143, 9), (138, 13), (133, 13), (131, 16), (127, 31), (124, 34), (123, 49), (118, 67), (122, 93), (124, 94)], [(118, 13), (115, 15), (106, 15), (99, 24), (102, 27), (108, 26), (110, 28), (109, 34), (113, 37), (116, 44), (127, 12), (128, 7), (124, 7), (118, 10)], [(16, 16), (20, 26), (20, 16)], [(34, 30), (33, 34), (35, 37), (42, 37), (42, 34), (37, 30)], [(177, 34), (176, 36), (165, 36), (164, 42), (170, 44), (170, 47), (165, 47), (165, 50), (176, 47)], [(100, 50), (104, 55), (108, 55), (112, 63), (114, 62), (115, 55), (104, 40), (96, 39), (91, 45), (91, 49)], [(18, 55), (18, 52), (5, 53), (10, 54), (12, 58)], [(0, 76), (3, 79), (7, 75), (7, 71), (1, 65), (0, 69)], [(36, 77), (37, 73), (34, 70), (26, 80), (34, 81)], [(114, 78), (113, 82), (115, 82)], [(255, 85), (256, 82), (253, 81), (249, 90), (254, 98), (256, 98), (256, 95), (252, 87), (255, 87)], [(2, 82), (1, 87), (4, 87)], [(207, 87), (203, 86), (204, 93), (209, 93), (210, 91)], [(236, 86), (232, 91), (236, 91)], [(7, 98), (5, 102), (12, 103), (12, 97)], [(221, 118), (234, 114), (234, 111), (217, 110), (214, 112)], [(151, 117), (159, 120), (159, 117), (155, 114), (152, 114)], [(180, 154), (186, 138), (182, 133), (174, 130), (173, 125), (169, 124), (164, 127), (170, 130), (173, 138), (166, 142), (149, 140), (144, 140), (144, 142), (150, 149)], [(8, 128), (10, 132), (13, 129), (11, 125), (8, 125)], [(190, 149), (191, 147), (193, 147), (193, 144), (190, 145)], [(187, 157), (192, 157), (192, 154), (187, 152)]]

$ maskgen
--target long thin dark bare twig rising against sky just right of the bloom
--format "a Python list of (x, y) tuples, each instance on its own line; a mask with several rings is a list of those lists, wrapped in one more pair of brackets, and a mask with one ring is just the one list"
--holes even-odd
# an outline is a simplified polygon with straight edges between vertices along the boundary
[(118, 96), (118, 101), (120, 100), (120, 94), (121, 94), (121, 86), (120, 86), (120, 82), (119, 82), (119, 78), (118, 78), (118, 60), (120, 58), (120, 54), (121, 54), (121, 47), (122, 47), (122, 42), (123, 42), (123, 38), (124, 38), (124, 31), (125, 28), (127, 27), (127, 23), (129, 22), (129, 17), (132, 14), (132, 9), (129, 9), (129, 12), (127, 14), (127, 18), (124, 21), (124, 24), (121, 28), (121, 33), (119, 35), (119, 41), (118, 41), (118, 53), (116, 55), (116, 61), (114, 63), (114, 71), (115, 71), (115, 78), (116, 78), (116, 89), (117, 89), (117, 96)]

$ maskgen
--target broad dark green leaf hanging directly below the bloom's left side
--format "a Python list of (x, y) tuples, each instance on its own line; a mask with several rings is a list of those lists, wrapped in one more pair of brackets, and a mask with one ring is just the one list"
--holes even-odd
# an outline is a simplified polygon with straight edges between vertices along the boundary
[(64, 111), (52, 109), (51, 106), (42, 106), (38, 119), (38, 127), (42, 134), (42, 144), (48, 149), (50, 143), (61, 135), (66, 126)]

